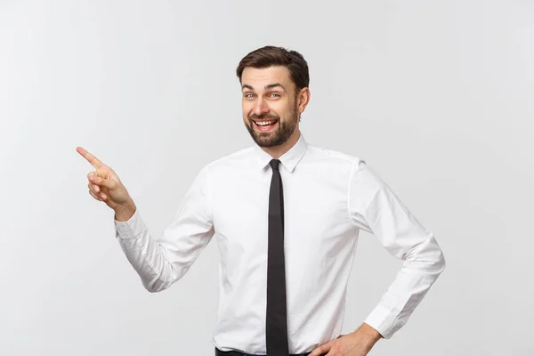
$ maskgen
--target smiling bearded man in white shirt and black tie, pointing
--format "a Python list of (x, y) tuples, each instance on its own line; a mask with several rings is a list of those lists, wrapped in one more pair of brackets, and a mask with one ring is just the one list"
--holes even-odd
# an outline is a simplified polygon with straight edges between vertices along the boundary
[[(441, 248), (363, 159), (305, 142), (299, 121), (310, 90), (300, 53), (257, 49), (237, 75), (255, 145), (204, 166), (159, 239), (117, 174), (77, 148), (95, 168), (89, 193), (115, 211), (118, 243), (150, 292), (181, 279), (216, 237), (216, 355), (366, 355), (441, 274)], [(340, 335), (360, 229), (404, 264), (360, 327)]]

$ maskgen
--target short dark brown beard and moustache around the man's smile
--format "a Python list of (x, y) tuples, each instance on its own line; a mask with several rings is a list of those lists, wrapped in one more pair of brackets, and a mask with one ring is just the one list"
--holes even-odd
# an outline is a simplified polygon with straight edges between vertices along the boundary
[[(253, 125), (255, 125), (253, 119), (271, 119), (277, 120), (278, 126), (273, 131), (262, 132), (256, 130)], [(280, 120), (280, 117), (276, 114), (263, 114), (255, 115), (252, 114), (248, 117), (248, 120), (245, 126), (247, 126), (248, 133), (254, 140), (254, 142), (260, 147), (274, 147), (279, 146), (289, 139), (291, 135), (295, 132), (296, 124), (298, 123), (298, 109), (295, 106), (289, 116), (284, 120)]]

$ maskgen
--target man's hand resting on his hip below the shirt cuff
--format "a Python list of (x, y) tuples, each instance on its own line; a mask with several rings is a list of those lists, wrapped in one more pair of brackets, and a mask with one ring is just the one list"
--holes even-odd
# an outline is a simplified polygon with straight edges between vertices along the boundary
[(321, 344), (310, 356), (366, 356), (380, 338), (378, 331), (363, 323), (351, 334)]

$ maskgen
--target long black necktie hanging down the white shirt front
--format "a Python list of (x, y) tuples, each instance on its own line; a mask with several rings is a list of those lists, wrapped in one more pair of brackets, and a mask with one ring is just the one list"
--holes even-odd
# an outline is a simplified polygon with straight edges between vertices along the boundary
[(278, 159), (272, 167), (269, 192), (269, 247), (267, 255), (267, 315), (265, 337), (268, 356), (288, 356), (286, 263), (284, 260), (284, 196)]

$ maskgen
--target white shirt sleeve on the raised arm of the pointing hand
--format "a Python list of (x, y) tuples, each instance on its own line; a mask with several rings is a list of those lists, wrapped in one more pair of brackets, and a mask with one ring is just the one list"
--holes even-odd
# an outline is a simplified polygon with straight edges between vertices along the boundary
[(114, 219), (116, 238), (142, 285), (159, 292), (181, 279), (214, 235), (207, 166), (190, 189), (163, 234), (153, 239), (139, 208), (126, 222)]

